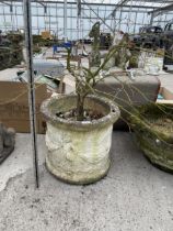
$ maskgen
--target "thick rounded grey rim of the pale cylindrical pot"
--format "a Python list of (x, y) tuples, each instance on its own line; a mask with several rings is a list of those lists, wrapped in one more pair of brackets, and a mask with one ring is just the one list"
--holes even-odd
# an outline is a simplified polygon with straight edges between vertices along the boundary
[(48, 106), (50, 106), (53, 102), (60, 100), (60, 99), (65, 99), (65, 98), (67, 100), (71, 99), (71, 98), (77, 98), (77, 95), (64, 95), (64, 96), (57, 96), (57, 97), (46, 99), (45, 101), (43, 101), (43, 103), (41, 106), (41, 111), (48, 122), (56, 124), (56, 125), (67, 127), (68, 130), (72, 129), (72, 130), (82, 130), (82, 131), (86, 130), (88, 131), (91, 128), (94, 129), (94, 128), (99, 128), (99, 127), (105, 127), (108, 124), (113, 124), (120, 116), (119, 108), (112, 100), (104, 98), (104, 97), (89, 95), (86, 98), (90, 98), (97, 102), (101, 102), (102, 106), (104, 106), (104, 105), (105, 105), (105, 107), (108, 106), (109, 112), (106, 116), (104, 116), (103, 118), (100, 118), (97, 120), (69, 121), (69, 120), (57, 117), (48, 108)]

